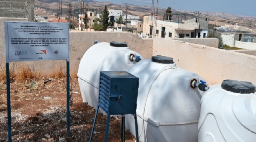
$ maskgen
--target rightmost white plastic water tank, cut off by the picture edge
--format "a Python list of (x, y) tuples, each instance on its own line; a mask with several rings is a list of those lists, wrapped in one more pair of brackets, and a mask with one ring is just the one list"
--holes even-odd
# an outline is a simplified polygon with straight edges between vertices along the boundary
[(255, 86), (224, 80), (201, 100), (198, 142), (256, 142)]

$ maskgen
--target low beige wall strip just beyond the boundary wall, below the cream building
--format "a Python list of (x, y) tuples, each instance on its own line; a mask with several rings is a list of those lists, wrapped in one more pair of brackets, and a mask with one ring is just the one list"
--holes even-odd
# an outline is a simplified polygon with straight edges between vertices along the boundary
[(175, 38), (173, 40), (184, 41), (195, 44), (203, 44), (210, 47), (218, 48), (219, 39), (218, 38)]

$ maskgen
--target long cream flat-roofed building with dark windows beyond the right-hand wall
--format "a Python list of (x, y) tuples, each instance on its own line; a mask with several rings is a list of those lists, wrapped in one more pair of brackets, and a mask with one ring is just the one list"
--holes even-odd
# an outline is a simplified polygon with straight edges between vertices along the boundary
[[(177, 21), (177, 20), (176, 20)], [(208, 21), (208, 20), (207, 20)], [(178, 21), (177, 21), (178, 22)], [(156, 16), (144, 16), (143, 20), (143, 33), (149, 37), (160, 38), (205, 38), (208, 33), (208, 22), (201, 23), (201, 28), (197, 20), (184, 22), (169, 22), (157, 20)], [(197, 32), (197, 34), (195, 34)]]

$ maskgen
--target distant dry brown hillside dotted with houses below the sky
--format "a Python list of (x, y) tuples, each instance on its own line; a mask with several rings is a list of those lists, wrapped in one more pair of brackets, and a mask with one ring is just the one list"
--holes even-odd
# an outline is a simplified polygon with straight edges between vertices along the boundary
[[(40, 7), (44, 10), (49, 11), (49, 14), (53, 12), (58, 12), (58, 4), (57, 2), (61, 0), (35, 0), (35, 7)], [(79, 0), (62, 0), (62, 4), (59, 5), (59, 15), (67, 16), (67, 5), (72, 5), (72, 11), (77, 9), (76, 11), (80, 11), (80, 1)], [(101, 13), (104, 10), (104, 6), (107, 5), (108, 9), (116, 9), (122, 10), (123, 14), (126, 12), (126, 8), (128, 7), (129, 15), (148, 15), (151, 13), (151, 6), (137, 6), (132, 4), (113, 4), (112, 2), (99, 2), (94, 0), (86, 0), (86, 2), (82, 2), (82, 7), (86, 7), (88, 5), (88, 11), (92, 11), (95, 13)], [(61, 9), (62, 7), (62, 9)], [(164, 9), (159, 9), (159, 19), (163, 16), (165, 12)], [(187, 10), (173, 10), (173, 13), (186, 15), (186, 20), (197, 18), (197, 14), (194, 14), (191, 11)], [(40, 14), (35, 12), (35, 14)], [(243, 15), (233, 15), (222, 12), (199, 12), (198, 17), (208, 18), (211, 23), (216, 23), (216, 25), (236, 25), (236, 23), (240, 26), (245, 26), (248, 28), (256, 28), (256, 17), (252, 16), (243, 16)], [(180, 17), (179, 17), (180, 18)], [(175, 19), (175, 15), (173, 16)], [(184, 20), (184, 19), (183, 19)]]

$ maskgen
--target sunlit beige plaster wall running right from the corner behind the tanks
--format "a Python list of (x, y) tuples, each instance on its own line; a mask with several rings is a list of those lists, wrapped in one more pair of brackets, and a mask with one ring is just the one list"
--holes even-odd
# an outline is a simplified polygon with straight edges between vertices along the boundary
[(201, 75), (210, 84), (235, 79), (250, 81), (256, 85), (256, 57), (252, 55), (155, 38), (153, 55), (158, 54), (173, 57), (177, 67)]

